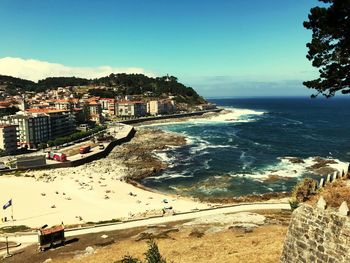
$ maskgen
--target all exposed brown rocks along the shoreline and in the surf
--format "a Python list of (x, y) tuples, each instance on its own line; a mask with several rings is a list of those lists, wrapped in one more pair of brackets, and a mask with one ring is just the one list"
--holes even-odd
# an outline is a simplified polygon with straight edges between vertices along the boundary
[[(214, 113), (217, 115), (218, 113)], [(221, 113), (222, 114), (222, 113)], [(212, 113), (209, 114), (213, 116)], [(202, 117), (203, 118), (203, 117)], [(178, 120), (184, 121), (184, 120)], [(135, 138), (121, 147), (115, 149), (108, 158), (118, 160), (123, 164), (127, 171), (124, 177), (125, 181), (137, 186), (139, 188), (153, 191), (144, 187), (140, 181), (149, 176), (154, 176), (157, 173), (167, 168), (167, 163), (157, 158), (153, 151), (164, 150), (169, 147), (180, 147), (186, 144), (186, 138), (182, 135), (165, 132), (160, 129), (153, 128), (137, 128)], [(298, 157), (285, 157), (283, 159), (288, 160), (293, 164), (304, 164), (305, 161)], [(307, 165), (306, 170), (319, 174), (320, 176), (328, 173), (333, 173), (337, 169), (330, 166), (337, 164), (335, 160), (324, 159), (321, 157), (314, 157), (313, 163)], [(306, 165), (306, 164), (305, 164)], [(278, 180), (289, 180), (289, 177), (278, 176), (272, 174), (266, 180), (266, 182), (274, 182)], [(242, 202), (256, 202), (267, 201), (271, 199), (281, 199), (289, 197), (289, 192), (271, 192), (257, 195), (245, 195), (240, 197), (203, 197), (200, 198), (203, 202), (208, 203), (242, 203)]]

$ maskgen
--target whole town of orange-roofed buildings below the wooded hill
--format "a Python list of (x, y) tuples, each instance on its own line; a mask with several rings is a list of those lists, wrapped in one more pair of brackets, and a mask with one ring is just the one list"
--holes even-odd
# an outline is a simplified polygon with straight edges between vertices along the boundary
[[(98, 87), (106, 90), (106, 87)], [(154, 97), (123, 95), (115, 98), (92, 96), (81, 87), (69, 86), (45, 92), (25, 91), (10, 95), (0, 93), (0, 150), (11, 155), (19, 149), (45, 148), (48, 142), (86, 132), (110, 121), (123, 121), (148, 116), (161, 116), (205, 110), (211, 104), (195, 108), (177, 107), (174, 96)]]

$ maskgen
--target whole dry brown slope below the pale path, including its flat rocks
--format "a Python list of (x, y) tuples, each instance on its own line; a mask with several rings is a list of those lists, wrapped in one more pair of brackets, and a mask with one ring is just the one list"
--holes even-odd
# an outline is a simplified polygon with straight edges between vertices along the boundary
[(279, 262), (290, 215), (266, 210), (80, 235), (44, 253), (36, 245), (13, 251), (6, 262), (109, 263), (124, 255), (144, 259), (148, 238), (155, 239), (167, 262)]

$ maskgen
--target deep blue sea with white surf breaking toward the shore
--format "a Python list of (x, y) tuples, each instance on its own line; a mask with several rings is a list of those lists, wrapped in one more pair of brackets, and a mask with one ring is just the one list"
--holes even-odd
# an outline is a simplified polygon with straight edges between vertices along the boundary
[[(169, 168), (147, 187), (195, 197), (289, 191), (314, 158), (350, 160), (350, 99), (256, 98), (211, 100), (231, 110), (212, 119), (157, 125), (188, 144), (157, 152)], [(292, 163), (286, 157), (298, 157)]]

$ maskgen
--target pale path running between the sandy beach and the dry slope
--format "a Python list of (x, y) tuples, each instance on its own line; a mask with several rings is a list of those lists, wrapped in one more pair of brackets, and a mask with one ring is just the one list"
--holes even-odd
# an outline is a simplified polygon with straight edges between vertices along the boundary
[[(117, 223), (117, 224), (111, 224), (111, 225), (67, 230), (65, 233), (65, 236), (72, 237), (77, 235), (108, 232), (113, 230), (142, 227), (147, 225), (164, 224), (164, 223), (176, 222), (181, 220), (195, 219), (195, 218), (204, 217), (204, 216), (211, 216), (211, 215), (218, 215), (218, 214), (225, 214), (225, 213), (237, 213), (237, 212), (244, 212), (244, 211), (254, 211), (254, 210), (265, 210), (265, 209), (268, 209), (268, 210), (290, 209), (290, 205), (288, 203), (253, 203), (253, 204), (232, 205), (232, 206), (214, 208), (214, 209), (205, 210), (205, 211), (196, 211), (196, 212), (190, 212), (187, 214), (178, 214), (174, 216), (142, 219), (137, 221)], [(9, 235), (8, 239), (9, 241), (20, 242), (22, 244), (36, 243), (38, 241), (38, 237), (36, 233), (32, 233), (29, 235), (21, 235), (21, 236)], [(5, 237), (0, 237), (0, 241), (5, 241)]]

